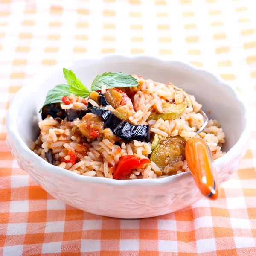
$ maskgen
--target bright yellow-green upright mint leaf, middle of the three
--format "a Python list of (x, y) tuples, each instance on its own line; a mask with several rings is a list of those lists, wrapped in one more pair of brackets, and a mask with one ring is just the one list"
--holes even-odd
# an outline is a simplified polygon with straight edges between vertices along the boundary
[(76, 96), (86, 98), (90, 95), (90, 91), (84, 86), (84, 84), (76, 78), (76, 75), (72, 70), (66, 68), (63, 69), (63, 74), (67, 83), (70, 85), (70, 92)]

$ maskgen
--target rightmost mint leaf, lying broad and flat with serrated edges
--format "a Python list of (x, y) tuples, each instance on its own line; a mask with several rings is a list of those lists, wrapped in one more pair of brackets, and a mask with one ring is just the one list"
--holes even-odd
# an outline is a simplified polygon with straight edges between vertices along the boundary
[(106, 85), (107, 89), (116, 87), (134, 87), (139, 85), (137, 80), (131, 75), (127, 75), (122, 72), (105, 72), (102, 75), (96, 76), (96, 78), (93, 80), (91, 90), (101, 90), (104, 84)]

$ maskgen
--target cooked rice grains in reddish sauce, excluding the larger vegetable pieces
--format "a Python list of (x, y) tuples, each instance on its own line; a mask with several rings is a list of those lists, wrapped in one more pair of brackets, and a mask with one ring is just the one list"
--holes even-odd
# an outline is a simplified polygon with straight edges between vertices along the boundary
[[(149, 125), (151, 133), (157, 134), (160, 140), (177, 135), (185, 138), (185, 140), (195, 137), (196, 131), (204, 124), (204, 119), (201, 113), (198, 113), (202, 105), (196, 102), (193, 95), (189, 96), (192, 106), (188, 105), (179, 118), (175, 120), (159, 118), (158, 120), (147, 121), (151, 114), (162, 113), (166, 102), (179, 105), (186, 101), (186, 97), (172, 84), (157, 83), (152, 80), (145, 80), (140, 76), (134, 77), (139, 82), (139, 86), (136, 89), (123, 88), (126, 93), (129, 93), (129, 90), (134, 90), (134, 96), (131, 97), (134, 108), (131, 111), (131, 116), (128, 117), (131, 124)], [(106, 93), (105, 85), (103, 85), (101, 92), (102, 94)], [(74, 94), (71, 94), (69, 99), (72, 103), (69, 105), (61, 104), (62, 109), (86, 109), (88, 103), (99, 107), (99, 104), (93, 99), (84, 99)], [(115, 111), (111, 105), (107, 105), (105, 108), (111, 112)], [(151, 143), (138, 140), (119, 140), (109, 128), (103, 128), (99, 137), (89, 139), (79, 130), (79, 125), (82, 122), (83, 120), (78, 118), (72, 122), (67, 121), (67, 119), (59, 122), (48, 116), (38, 123), (41, 133), (38, 139), (31, 144), (31, 150), (44, 160), (47, 160), (46, 153), (52, 152), (55, 166), (70, 170), (70, 172), (78, 175), (90, 177), (113, 178), (116, 165), (124, 156), (149, 160), (152, 153)], [(225, 154), (221, 151), (221, 147), (225, 143), (225, 134), (218, 121), (209, 120), (199, 135), (208, 144), (213, 159)], [(73, 160), (72, 154), (76, 155), (75, 160)], [(188, 171), (186, 159), (178, 161), (172, 166), (166, 166), (163, 170), (156, 163), (149, 161), (143, 168), (132, 169), (127, 179), (167, 177)]]

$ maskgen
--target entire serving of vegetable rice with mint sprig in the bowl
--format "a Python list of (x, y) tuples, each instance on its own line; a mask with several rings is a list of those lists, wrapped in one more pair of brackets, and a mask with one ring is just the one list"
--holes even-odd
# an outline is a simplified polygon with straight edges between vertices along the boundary
[[(172, 83), (103, 73), (91, 89), (67, 69), (67, 84), (47, 93), (31, 150), (79, 175), (118, 180), (188, 172), (186, 142), (203, 126), (201, 105)], [(216, 120), (199, 133), (221, 157), (225, 134)]]

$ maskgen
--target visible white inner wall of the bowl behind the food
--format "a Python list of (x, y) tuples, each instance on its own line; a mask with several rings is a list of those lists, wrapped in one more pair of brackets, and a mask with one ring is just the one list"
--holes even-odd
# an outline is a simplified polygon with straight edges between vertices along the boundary
[[(44, 103), (45, 96), (52, 87), (66, 83), (62, 67), (72, 69), (76, 76), (90, 88), (96, 75), (104, 72), (125, 72), (137, 74), (145, 79), (168, 83), (183, 88), (195, 95), (196, 100), (203, 105), (203, 110), (210, 110), (209, 118), (221, 122), (226, 134), (223, 151), (228, 151), (239, 139), (245, 127), (244, 105), (236, 98), (229, 87), (220, 82), (208, 72), (193, 69), (191, 66), (177, 61), (160, 61), (154, 58), (105, 58), (101, 60), (78, 60), (52, 68), (40, 79), (34, 79), (26, 89), (15, 99), (15, 111), (10, 118), (16, 120), (17, 131), (26, 143), (37, 137), (38, 121), (41, 119), (38, 111)], [(12, 108), (11, 107), (11, 108)]]

